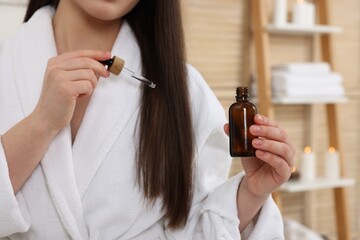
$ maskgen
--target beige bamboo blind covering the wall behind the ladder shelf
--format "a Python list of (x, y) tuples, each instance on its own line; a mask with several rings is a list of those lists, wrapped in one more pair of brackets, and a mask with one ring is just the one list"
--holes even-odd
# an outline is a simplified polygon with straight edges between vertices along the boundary
[[(289, 11), (292, 2), (288, 1)], [(266, 4), (271, 21), (273, 1), (269, 0)], [(246, 68), (253, 68), (253, 59), (248, 58), (246, 48), (246, 41), (251, 39), (246, 1), (185, 0), (183, 6), (188, 61), (202, 73), (227, 111), (234, 101), (235, 87), (249, 80), (244, 75)], [(333, 37), (333, 54), (335, 70), (344, 77), (344, 86), (350, 99), (339, 104), (338, 111), (346, 177), (354, 178), (357, 182), (356, 186), (347, 188), (351, 236), (352, 239), (360, 239), (360, 1), (329, 0), (329, 6), (332, 25), (343, 29), (342, 33)], [(319, 59), (318, 45), (315, 42), (315, 51), (311, 51), (311, 43), (309, 37), (271, 36), (271, 64)], [(314, 111), (315, 144), (312, 147), (317, 156), (318, 175), (321, 176), (328, 148), (326, 112), (320, 104), (314, 105)], [(297, 161), (301, 159), (305, 144), (306, 113), (304, 106), (275, 106), (276, 121), (291, 136), (298, 153)], [(234, 159), (230, 175), (240, 170), (239, 159)], [(282, 197), (284, 217), (302, 222), (304, 194), (282, 194)], [(314, 230), (336, 239), (332, 191), (316, 191), (313, 204), (316, 210)]]

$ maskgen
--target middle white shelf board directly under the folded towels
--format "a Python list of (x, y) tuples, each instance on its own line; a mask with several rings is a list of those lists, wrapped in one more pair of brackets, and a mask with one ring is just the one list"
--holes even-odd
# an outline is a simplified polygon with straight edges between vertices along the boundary
[[(254, 103), (258, 103), (258, 98), (252, 99)], [(306, 97), (273, 97), (273, 104), (316, 104), (316, 103), (344, 103), (347, 102), (346, 96), (306, 96)]]

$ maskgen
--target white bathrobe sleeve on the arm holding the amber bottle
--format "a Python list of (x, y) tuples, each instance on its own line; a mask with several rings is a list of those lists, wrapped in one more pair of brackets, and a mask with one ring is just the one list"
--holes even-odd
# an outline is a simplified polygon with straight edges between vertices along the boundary
[(240, 235), (236, 198), (244, 173), (228, 179), (231, 157), (223, 130), (227, 122), (224, 108), (190, 66), (189, 79), (198, 148), (194, 202), (187, 226), (165, 230), (166, 239), (284, 239), (282, 217), (271, 197)]

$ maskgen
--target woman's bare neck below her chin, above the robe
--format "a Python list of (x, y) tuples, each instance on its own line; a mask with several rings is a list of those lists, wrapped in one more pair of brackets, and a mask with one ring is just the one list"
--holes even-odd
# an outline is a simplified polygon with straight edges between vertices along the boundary
[(53, 18), (58, 54), (77, 49), (111, 51), (121, 20), (95, 19), (70, 4), (71, 1), (60, 1)]

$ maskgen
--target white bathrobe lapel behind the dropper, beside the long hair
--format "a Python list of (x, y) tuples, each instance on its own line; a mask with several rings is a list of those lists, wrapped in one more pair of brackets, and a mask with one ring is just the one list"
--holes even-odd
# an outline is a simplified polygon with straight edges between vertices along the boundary
[[(112, 54), (123, 58), (128, 69), (141, 72), (140, 51), (126, 22), (121, 26)], [(119, 76), (111, 74), (110, 78), (99, 80), (73, 145), (75, 173), (81, 196), (85, 194), (116, 139), (138, 110), (140, 84), (126, 70)], [(132, 136), (128, 137), (129, 140), (133, 139)]]

